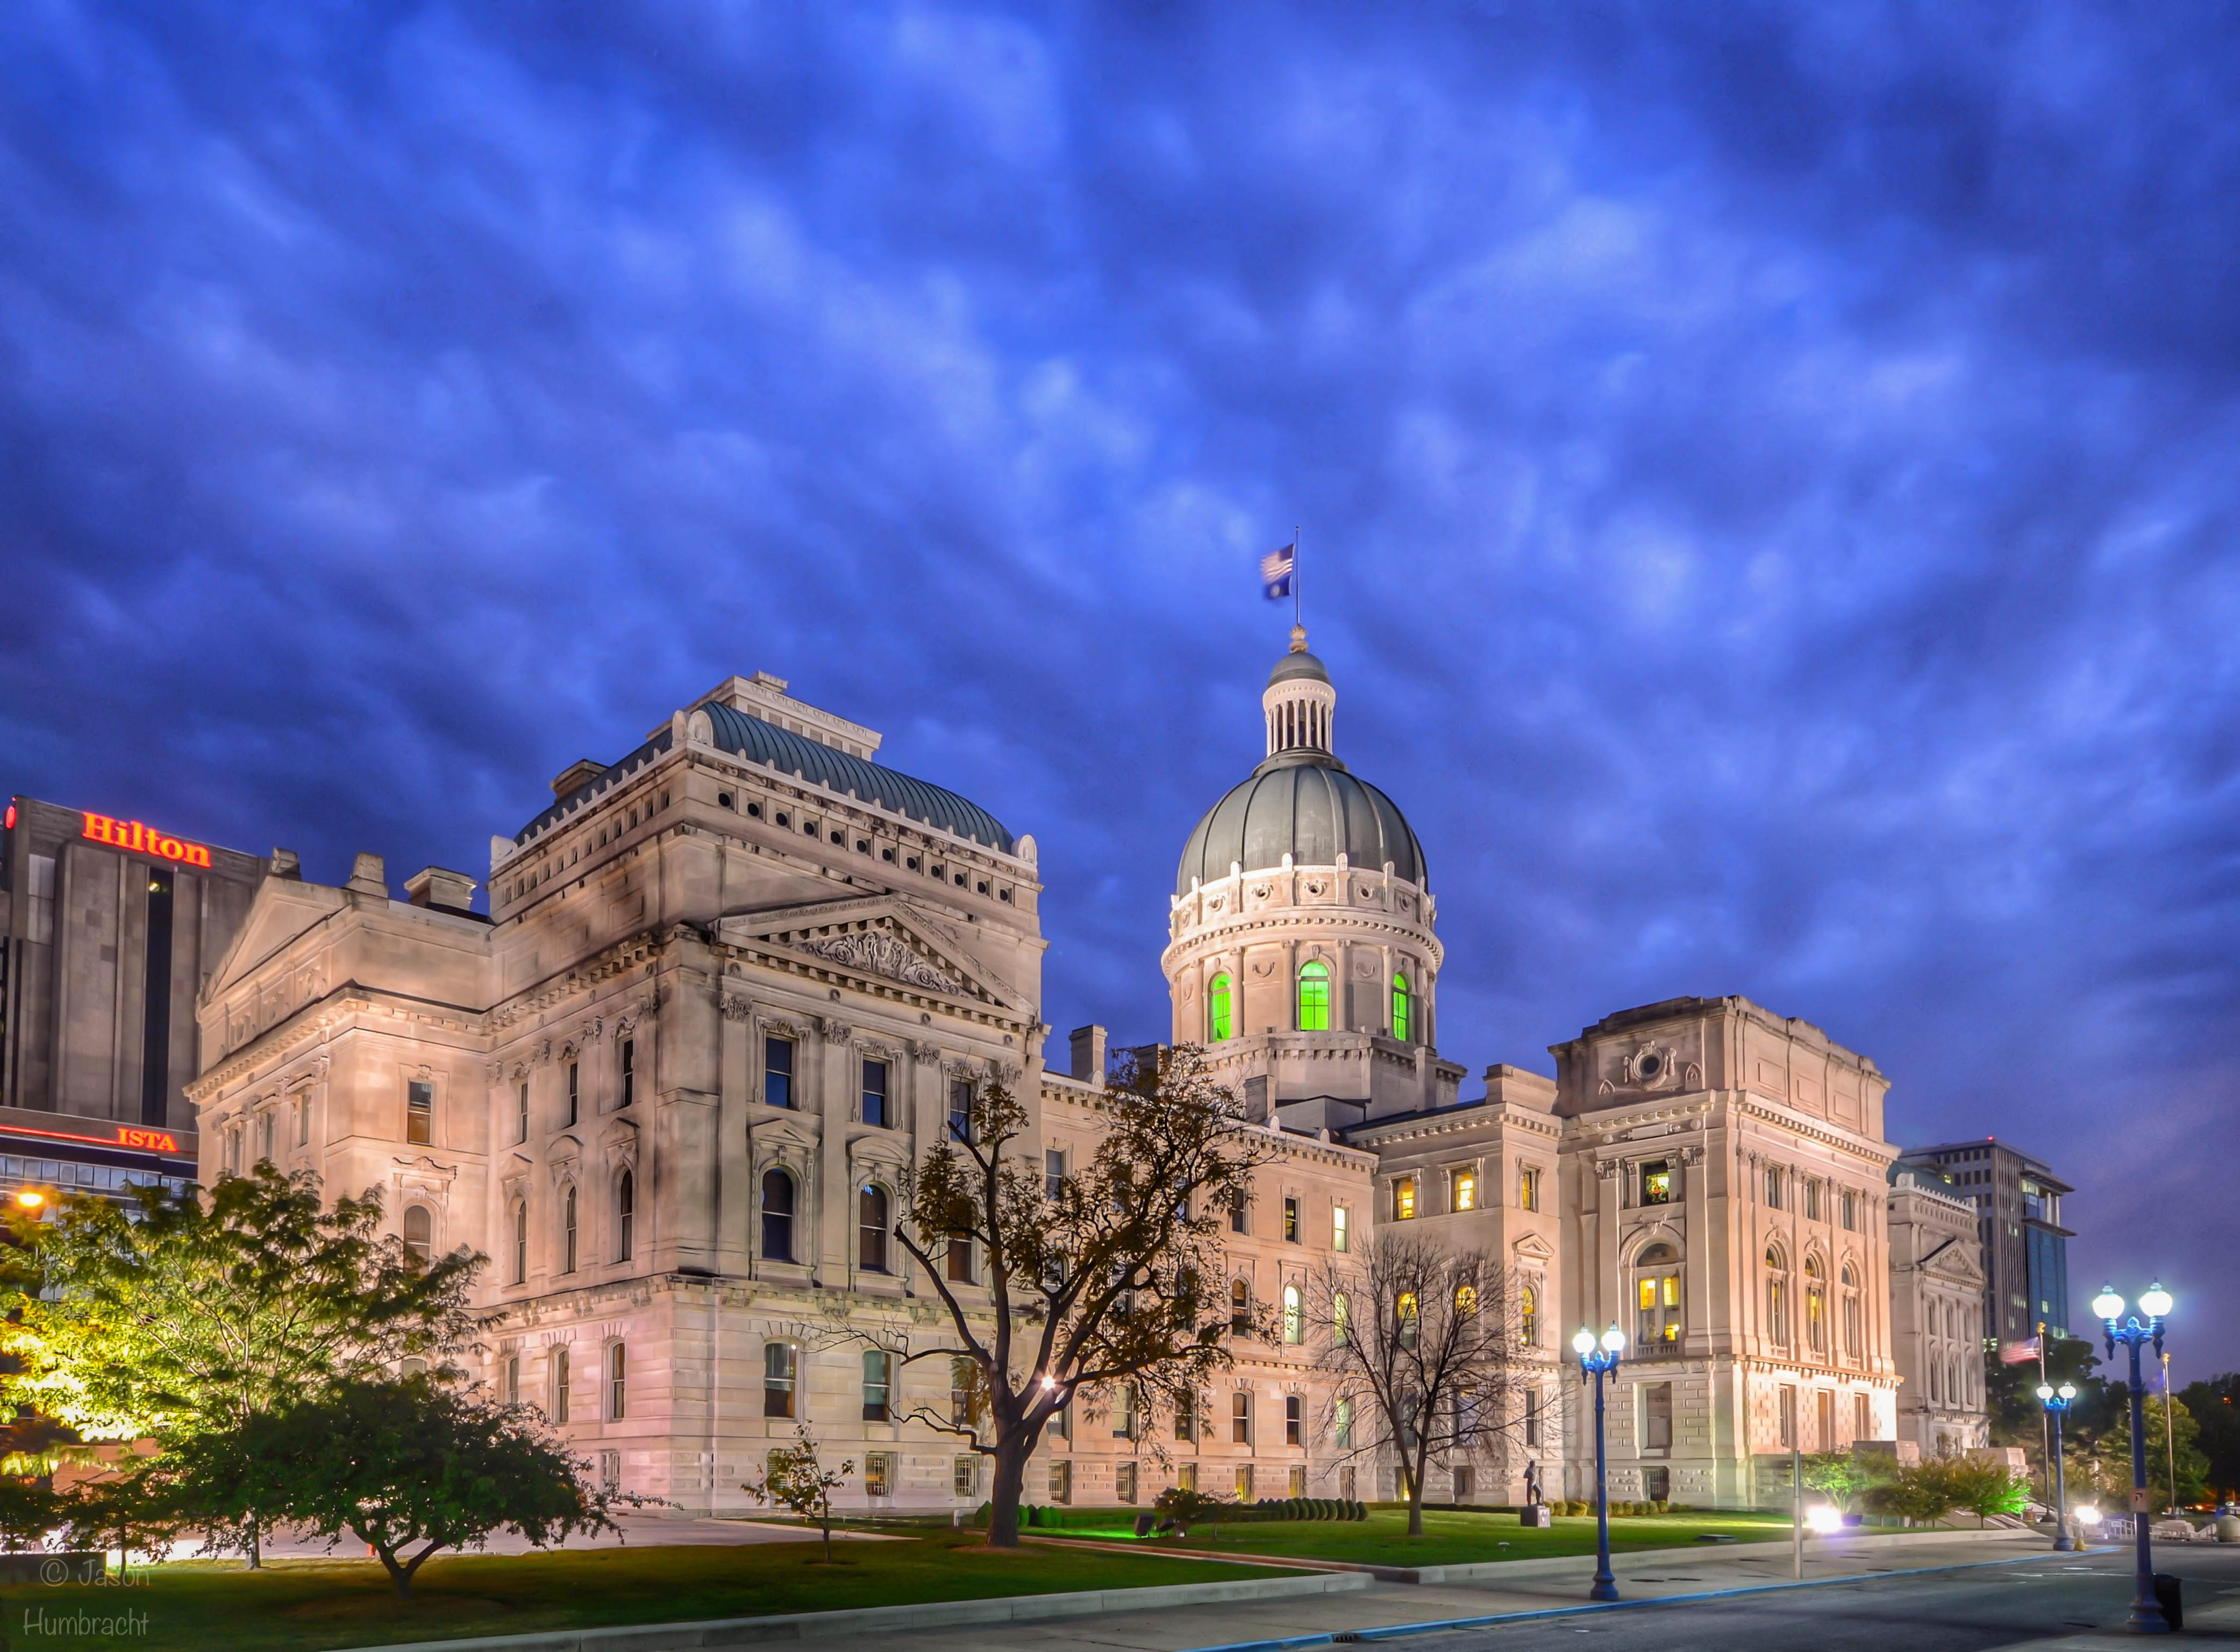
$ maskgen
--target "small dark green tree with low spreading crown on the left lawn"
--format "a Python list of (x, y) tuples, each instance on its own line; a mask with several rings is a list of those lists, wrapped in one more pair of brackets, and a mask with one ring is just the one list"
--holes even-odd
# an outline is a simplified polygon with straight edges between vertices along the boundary
[(479, 1549), (493, 1531), (538, 1547), (614, 1531), (614, 1497), (585, 1484), (535, 1410), (428, 1374), (343, 1379), (233, 1430), (190, 1435), (159, 1461), (193, 1515), (237, 1518), (246, 1502), (329, 1540), (354, 1533), (405, 1600), (439, 1549)]

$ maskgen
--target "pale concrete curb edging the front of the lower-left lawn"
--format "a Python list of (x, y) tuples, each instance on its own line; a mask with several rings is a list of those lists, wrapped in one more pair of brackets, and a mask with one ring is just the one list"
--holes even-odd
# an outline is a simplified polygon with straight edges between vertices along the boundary
[(1371, 1578), (1360, 1571), (1308, 1571), (1290, 1578), (1154, 1583), (1140, 1589), (1075, 1589), (1071, 1594), (1012, 1594), (981, 1600), (925, 1600), (900, 1607), (786, 1612), (766, 1618), (623, 1623), (609, 1630), (542, 1630), (535, 1634), (484, 1634), (461, 1641), (396, 1641), (379, 1648), (352, 1648), (349, 1652), (683, 1652), (685, 1648), (759, 1645), (764, 1641), (822, 1641), (833, 1634), (1102, 1618), (1113, 1612), (1163, 1612), (1167, 1607), (1223, 1605), (1230, 1600), (1292, 1600), (1315, 1594), (1351, 1594), (1369, 1585)]

